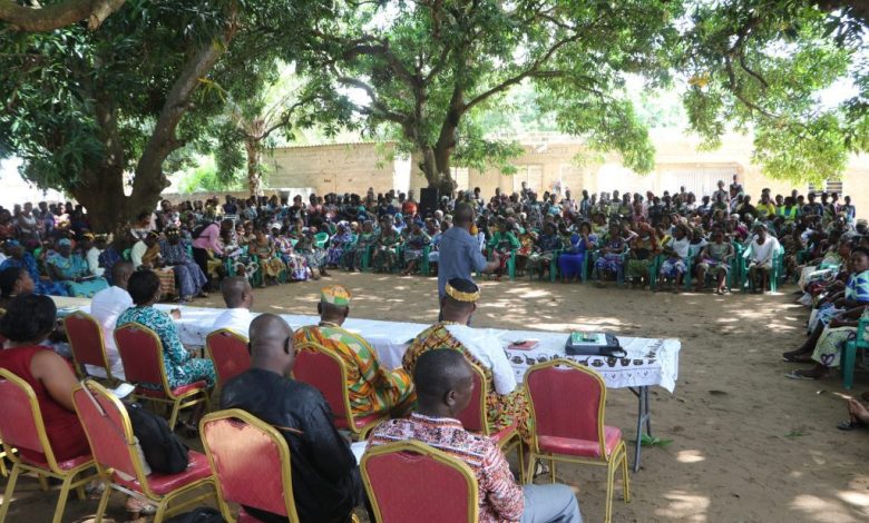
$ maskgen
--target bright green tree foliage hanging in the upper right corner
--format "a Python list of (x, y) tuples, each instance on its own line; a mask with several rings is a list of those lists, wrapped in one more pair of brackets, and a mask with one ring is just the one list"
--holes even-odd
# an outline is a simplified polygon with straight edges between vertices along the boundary
[(712, 146), (731, 126), (753, 131), (770, 177), (839, 177), (850, 154), (869, 151), (868, 22), (866, 2), (699, 2), (681, 63), (692, 127)]

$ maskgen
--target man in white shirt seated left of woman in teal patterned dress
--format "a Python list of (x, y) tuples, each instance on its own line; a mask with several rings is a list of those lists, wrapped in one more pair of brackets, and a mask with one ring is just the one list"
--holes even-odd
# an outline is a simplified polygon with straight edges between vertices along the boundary
[[(90, 315), (102, 329), (102, 343), (106, 346), (106, 359), (111, 368), (111, 376), (118, 379), (126, 379), (126, 377), (124, 376), (124, 364), (115, 345), (115, 326), (120, 313), (133, 307), (133, 298), (127, 293), (127, 280), (131, 274), (133, 264), (129, 262), (116, 263), (111, 266), (111, 283), (114, 285), (95, 294), (90, 300)], [(85, 369), (91, 376), (106, 377), (106, 371), (101, 367), (85, 365)]]

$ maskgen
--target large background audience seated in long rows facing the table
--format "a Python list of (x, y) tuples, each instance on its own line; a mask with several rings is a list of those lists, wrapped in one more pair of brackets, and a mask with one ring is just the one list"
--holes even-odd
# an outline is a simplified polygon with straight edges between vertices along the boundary
[(755, 200), (735, 176), (729, 188), (719, 181), (700, 197), (682, 187), (660, 196), (584, 190), (577, 199), (570, 190), (538, 195), (523, 184), (487, 200), (477, 188), (441, 197), (424, 213), (412, 190), (369, 189), (312, 194), (307, 201), (301, 195), (164, 200), (110, 239), (89, 231), (80, 206), (0, 208), (0, 267), (26, 268), (38, 294), (91, 296), (110, 283), (111, 265), (128, 259), (160, 277), (164, 299), (180, 302), (236, 275), (256, 286), (319, 279), (333, 268), (430, 275), (458, 203), (475, 207), (472, 231), (498, 264), (496, 278), (536, 273), (674, 290), (690, 280), (719, 294), (744, 282), (763, 292), (773, 276), (810, 277), (800, 266), (822, 256), (831, 238), (867, 234), (848, 196), (762, 189)]

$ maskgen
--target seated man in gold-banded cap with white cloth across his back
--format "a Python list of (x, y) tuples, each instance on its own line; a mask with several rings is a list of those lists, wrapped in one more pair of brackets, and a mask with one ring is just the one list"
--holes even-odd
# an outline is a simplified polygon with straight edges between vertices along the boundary
[(443, 319), (413, 338), (401, 366), (412, 376), (417, 359), (422, 354), (436, 348), (461, 352), (469, 362), (480, 367), (488, 382), (486, 405), (489, 428), (497, 432), (516, 423), (523, 438), (530, 442), (528, 399), (516, 382), (501, 341), (491, 329), (468, 326), (479, 298), (480, 289), (473, 282), (463, 278), (447, 282), (441, 299)]

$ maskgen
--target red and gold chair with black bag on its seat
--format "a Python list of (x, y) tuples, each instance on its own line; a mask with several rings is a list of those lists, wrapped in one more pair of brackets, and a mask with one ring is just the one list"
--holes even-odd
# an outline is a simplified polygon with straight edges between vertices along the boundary
[[(208, 497), (216, 497), (214, 478), (204, 454), (189, 451), (187, 470), (178, 474), (145, 474), (145, 463), (133, 434), (127, 409), (104, 386), (87, 379), (72, 392), (72, 403), (85, 427), (100, 478), (106, 484), (97, 509), (96, 523), (102, 521), (113, 490), (156, 506), (155, 522), (184, 512)], [(191, 497), (205, 489), (209, 492)], [(178, 497), (184, 502), (169, 507)]]

